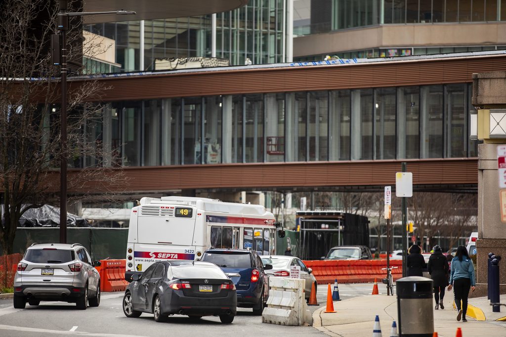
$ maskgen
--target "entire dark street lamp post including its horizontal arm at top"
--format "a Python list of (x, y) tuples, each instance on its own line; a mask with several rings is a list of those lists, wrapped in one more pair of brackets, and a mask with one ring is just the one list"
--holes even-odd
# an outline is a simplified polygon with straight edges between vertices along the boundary
[[(61, 68), (61, 155), (60, 155), (60, 243), (67, 243), (67, 36), (69, 16), (119, 14), (135, 15), (133, 11), (67, 12), (68, 0), (59, 0), (57, 30), (51, 36), (52, 62)], [(141, 46), (143, 48), (143, 46)], [(59, 56), (59, 57), (58, 57)]]

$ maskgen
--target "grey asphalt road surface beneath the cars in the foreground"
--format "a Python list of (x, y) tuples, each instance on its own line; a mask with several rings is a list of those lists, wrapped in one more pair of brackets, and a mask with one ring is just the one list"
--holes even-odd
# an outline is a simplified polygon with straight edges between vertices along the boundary
[[(345, 300), (370, 294), (369, 284), (340, 284), (340, 297)], [(380, 286), (379, 291), (382, 292)], [(311, 326), (282, 326), (262, 324), (260, 316), (251, 309), (238, 309), (232, 324), (222, 324), (218, 317), (203, 317), (190, 322), (187, 316), (171, 316), (166, 323), (156, 323), (151, 314), (139, 318), (127, 318), (121, 309), (122, 292), (103, 293), (97, 308), (76, 310), (75, 304), (41, 302), (37, 307), (26, 305), (23, 310), (14, 309), (12, 299), (0, 300), (0, 336), (40, 335), (89, 335), (89, 336), (160, 336), (178, 337), (229, 336), (229, 335), (275, 335), (325, 336)], [(318, 286), (319, 306), (310, 306), (311, 312), (326, 303), (326, 287)], [(336, 304), (339, 306), (339, 303)]]

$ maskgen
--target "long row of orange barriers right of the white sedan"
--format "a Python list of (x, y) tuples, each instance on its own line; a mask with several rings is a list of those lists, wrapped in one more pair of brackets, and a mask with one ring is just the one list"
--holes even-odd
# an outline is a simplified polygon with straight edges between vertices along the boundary
[[(311, 260), (304, 264), (313, 270), (318, 284), (333, 283), (361, 283), (378, 281), (387, 276), (387, 260)], [(391, 260), (390, 267), (394, 280), (402, 277), (402, 260)]]

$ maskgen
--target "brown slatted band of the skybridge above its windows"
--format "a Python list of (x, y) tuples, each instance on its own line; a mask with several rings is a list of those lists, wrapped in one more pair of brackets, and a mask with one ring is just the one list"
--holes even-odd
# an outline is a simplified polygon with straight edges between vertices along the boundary
[[(101, 100), (279, 93), (472, 82), (472, 73), (506, 70), (506, 55), (184, 72), (102, 78)], [(75, 80), (72, 86), (78, 85)]]

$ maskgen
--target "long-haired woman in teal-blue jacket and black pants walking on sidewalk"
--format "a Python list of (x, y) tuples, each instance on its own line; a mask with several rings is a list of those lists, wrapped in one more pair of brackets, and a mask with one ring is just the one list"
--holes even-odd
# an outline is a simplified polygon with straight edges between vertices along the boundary
[[(466, 312), (468, 310), (469, 289), (474, 291), (475, 270), (473, 260), (469, 258), (468, 250), (465, 246), (458, 246), (455, 257), (451, 260), (450, 285), (448, 290), (453, 287), (455, 296), (455, 306), (457, 307), (457, 321), (462, 318), (462, 322), (467, 322)], [(462, 301), (462, 306), (460, 306)]]

